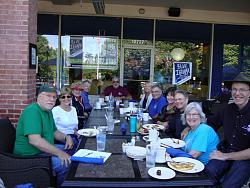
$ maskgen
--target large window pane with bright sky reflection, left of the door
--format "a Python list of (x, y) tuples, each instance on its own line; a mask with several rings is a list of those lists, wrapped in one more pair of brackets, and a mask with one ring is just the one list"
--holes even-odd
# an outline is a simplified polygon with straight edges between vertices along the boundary
[[(119, 73), (117, 37), (62, 36), (63, 85), (99, 80), (102, 89)], [(100, 93), (100, 91), (99, 91)], [(90, 93), (90, 94), (99, 94)]]

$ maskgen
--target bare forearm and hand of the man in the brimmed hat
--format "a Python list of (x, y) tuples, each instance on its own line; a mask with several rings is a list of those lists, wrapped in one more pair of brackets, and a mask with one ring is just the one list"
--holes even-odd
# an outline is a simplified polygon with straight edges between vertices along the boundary
[(213, 151), (210, 154), (210, 159), (218, 160), (249, 160), (250, 159), (250, 148), (231, 153), (222, 153), (220, 151)]

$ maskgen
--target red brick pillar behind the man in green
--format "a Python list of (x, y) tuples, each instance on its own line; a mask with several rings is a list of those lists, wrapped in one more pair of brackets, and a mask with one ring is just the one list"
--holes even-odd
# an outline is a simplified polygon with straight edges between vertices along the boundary
[(0, 118), (9, 117), (14, 124), (35, 101), (29, 43), (36, 44), (36, 33), (36, 0), (0, 0)]

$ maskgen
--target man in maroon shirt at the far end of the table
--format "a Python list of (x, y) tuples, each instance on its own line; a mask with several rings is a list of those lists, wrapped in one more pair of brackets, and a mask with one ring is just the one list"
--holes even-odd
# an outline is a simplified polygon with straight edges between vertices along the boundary
[(127, 88), (120, 86), (120, 81), (118, 77), (112, 79), (112, 86), (108, 86), (104, 89), (102, 95), (109, 96), (112, 93), (112, 96), (117, 99), (131, 99), (131, 95)]

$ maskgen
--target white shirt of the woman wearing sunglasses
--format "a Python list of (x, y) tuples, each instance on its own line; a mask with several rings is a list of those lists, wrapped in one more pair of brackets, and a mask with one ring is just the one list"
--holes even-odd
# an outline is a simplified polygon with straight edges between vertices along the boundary
[(69, 112), (56, 106), (52, 109), (55, 125), (64, 134), (74, 134), (74, 129), (78, 128), (78, 118), (75, 107), (71, 106)]

